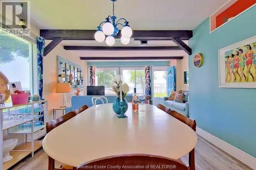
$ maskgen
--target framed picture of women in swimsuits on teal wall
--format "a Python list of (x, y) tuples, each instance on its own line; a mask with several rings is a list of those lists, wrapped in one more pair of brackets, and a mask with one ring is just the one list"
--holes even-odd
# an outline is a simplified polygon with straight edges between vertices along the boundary
[(256, 88), (256, 36), (219, 50), (219, 87)]

